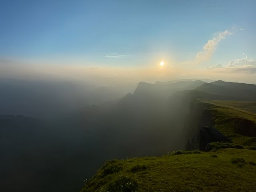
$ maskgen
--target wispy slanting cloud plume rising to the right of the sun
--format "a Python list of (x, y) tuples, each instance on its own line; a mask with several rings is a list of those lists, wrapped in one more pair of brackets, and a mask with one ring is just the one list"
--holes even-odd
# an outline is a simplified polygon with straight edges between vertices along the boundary
[(212, 54), (216, 50), (218, 43), (221, 40), (225, 39), (226, 36), (229, 36), (232, 34), (233, 34), (232, 32), (225, 30), (223, 32), (219, 32), (218, 35), (215, 36), (213, 39), (208, 40), (208, 42), (204, 45), (203, 50), (196, 54), (196, 63), (210, 60), (210, 58), (212, 57)]

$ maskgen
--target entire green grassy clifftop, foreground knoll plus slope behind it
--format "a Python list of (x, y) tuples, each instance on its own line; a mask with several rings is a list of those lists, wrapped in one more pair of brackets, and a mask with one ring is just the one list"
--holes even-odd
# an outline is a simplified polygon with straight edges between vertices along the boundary
[[(234, 144), (256, 146), (251, 142), (255, 138), (234, 132), (233, 122), (234, 118), (245, 118), (256, 123), (256, 102), (207, 103), (211, 104), (214, 127)], [(245, 163), (236, 163), (233, 158), (243, 158)], [(82, 192), (255, 191), (255, 180), (256, 151), (226, 148), (200, 154), (112, 160), (86, 182)]]

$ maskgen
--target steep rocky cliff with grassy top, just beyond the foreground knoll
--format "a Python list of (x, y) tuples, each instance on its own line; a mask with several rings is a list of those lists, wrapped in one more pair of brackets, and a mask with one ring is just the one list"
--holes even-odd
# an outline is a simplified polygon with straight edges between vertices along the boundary
[(222, 104), (202, 100), (191, 104), (184, 127), (188, 139), (186, 150), (210, 150), (212, 142), (255, 145), (256, 114)]

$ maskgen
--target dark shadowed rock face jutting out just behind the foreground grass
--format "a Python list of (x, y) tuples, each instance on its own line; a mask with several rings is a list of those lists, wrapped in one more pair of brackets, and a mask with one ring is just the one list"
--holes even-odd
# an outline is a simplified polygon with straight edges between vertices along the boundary
[(198, 145), (201, 151), (208, 151), (208, 143), (212, 142), (232, 142), (229, 138), (214, 127), (204, 126), (199, 130)]

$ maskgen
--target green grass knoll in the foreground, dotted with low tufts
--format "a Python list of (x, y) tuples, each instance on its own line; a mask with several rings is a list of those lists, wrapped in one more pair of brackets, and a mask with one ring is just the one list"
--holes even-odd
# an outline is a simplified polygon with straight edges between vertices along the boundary
[(175, 152), (161, 157), (114, 160), (121, 167), (86, 182), (82, 192), (254, 191), (256, 151), (226, 148), (216, 152)]

